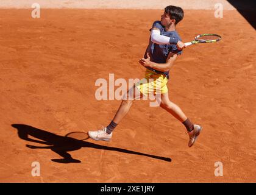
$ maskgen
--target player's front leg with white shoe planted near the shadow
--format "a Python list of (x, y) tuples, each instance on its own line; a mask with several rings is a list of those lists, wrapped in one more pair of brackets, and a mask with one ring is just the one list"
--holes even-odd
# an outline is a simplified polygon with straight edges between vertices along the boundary
[(130, 88), (126, 92), (126, 94), (124, 94), (121, 105), (119, 106), (116, 115), (114, 116), (110, 124), (107, 127), (104, 127), (100, 130), (89, 131), (89, 137), (92, 138), (93, 140), (110, 141), (110, 139), (112, 138), (112, 131), (119, 124), (119, 122), (121, 122), (124, 116), (126, 116), (126, 114), (129, 112), (130, 107), (132, 106), (132, 102), (135, 99), (142, 98), (142, 96), (143, 94), (138, 90), (137, 87), (135, 87), (135, 85), (133, 85), (133, 87)]

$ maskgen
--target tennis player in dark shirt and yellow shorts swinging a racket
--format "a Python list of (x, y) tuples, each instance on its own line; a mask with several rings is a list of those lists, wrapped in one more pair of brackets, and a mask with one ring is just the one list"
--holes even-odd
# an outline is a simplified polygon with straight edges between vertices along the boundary
[(135, 83), (127, 91), (115, 117), (107, 127), (88, 132), (90, 138), (110, 141), (113, 130), (129, 112), (132, 102), (135, 99), (148, 96), (149, 93), (154, 93), (155, 95), (160, 95), (160, 107), (171, 113), (186, 127), (190, 138), (188, 147), (193, 146), (202, 127), (193, 124), (178, 105), (169, 101), (168, 87), (166, 85), (169, 79), (169, 70), (174, 65), (178, 55), (182, 54), (182, 49), (185, 48), (185, 44), (181, 41), (176, 31), (176, 25), (183, 19), (183, 16), (184, 12), (180, 7), (173, 5), (165, 7), (161, 21), (155, 21), (152, 25), (148, 48), (144, 58), (139, 60), (139, 63), (146, 68), (144, 79)]

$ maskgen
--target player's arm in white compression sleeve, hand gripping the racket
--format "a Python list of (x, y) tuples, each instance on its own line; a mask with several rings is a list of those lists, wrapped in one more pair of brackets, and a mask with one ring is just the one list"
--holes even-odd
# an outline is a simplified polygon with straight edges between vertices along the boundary
[(178, 49), (186, 47), (185, 44), (176, 37), (161, 35), (160, 30), (157, 27), (151, 29), (151, 41), (156, 44), (176, 44)]

